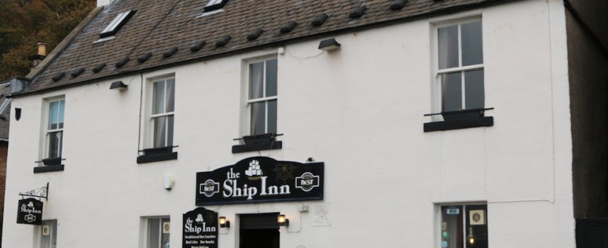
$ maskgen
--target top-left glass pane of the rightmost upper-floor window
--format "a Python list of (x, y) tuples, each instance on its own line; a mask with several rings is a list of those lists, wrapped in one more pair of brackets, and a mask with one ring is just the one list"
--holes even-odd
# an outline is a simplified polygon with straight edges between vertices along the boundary
[(439, 69), (458, 67), (458, 26), (439, 28)]

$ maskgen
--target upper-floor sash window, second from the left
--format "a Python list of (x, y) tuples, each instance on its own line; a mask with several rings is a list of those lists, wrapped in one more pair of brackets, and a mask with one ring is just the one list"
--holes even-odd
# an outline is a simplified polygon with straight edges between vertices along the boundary
[(152, 83), (150, 140), (152, 147), (173, 146), (175, 79), (158, 79)]

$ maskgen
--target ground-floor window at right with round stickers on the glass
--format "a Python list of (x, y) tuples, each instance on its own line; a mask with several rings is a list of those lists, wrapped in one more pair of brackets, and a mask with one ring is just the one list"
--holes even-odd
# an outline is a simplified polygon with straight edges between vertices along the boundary
[(442, 248), (487, 248), (488, 205), (441, 205)]

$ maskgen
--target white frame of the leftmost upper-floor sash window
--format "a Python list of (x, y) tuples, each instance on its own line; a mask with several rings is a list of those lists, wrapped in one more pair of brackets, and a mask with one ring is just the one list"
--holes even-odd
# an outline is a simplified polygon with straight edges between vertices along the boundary
[[(55, 129), (50, 129), (50, 106), (51, 103), (55, 103), (55, 102), (60, 102), (63, 101), (63, 125), (61, 128), (57, 127)], [(51, 159), (51, 158), (57, 158), (57, 157), (50, 157), (50, 134), (51, 133), (57, 133), (57, 132), (61, 132), (61, 139), (59, 141), (59, 145), (58, 148), (59, 150), (57, 151), (57, 154), (59, 154), (59, 157), (63, 157), (63, 144), (64, 144), (64, 139), (65, 139), (65, 133), (64, 133), (64, 129), (65, 129), (65, 96), (56, 96), (56, 97), (52, 97), (52, 98), (45, 98), (44, 99), (44, 104), (43, 104), (43, 126), (42, 126), (42, 132), (43, 132), (43, 137), (42, 137), (42, 154), (41, 154), (41, 159)]]

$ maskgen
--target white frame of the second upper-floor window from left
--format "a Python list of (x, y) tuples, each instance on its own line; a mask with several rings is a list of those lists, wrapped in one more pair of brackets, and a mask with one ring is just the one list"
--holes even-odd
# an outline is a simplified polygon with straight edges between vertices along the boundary
[[(159, 82), (159, 81), (167, 81), (168, 79), (173, 79), (174, 80), (174, 96), (173, 96), (173, 103), (174, 103), (174, 109), (171, 112), (164, 112), (164, 113), (157, 113), (154, 114), (153, 111), (153, 106), (154, 106), (154, 84)], [(173, 116), (174, 117), (174, 121), (175, 121), (175, 98), (176, 98), (176, 84), (177, 84), (177, 80), (174, 74), (169, 74), (169, 75), (164, 75), (161, 77), (151, 77), (149, 79), (147, 79), (147, 84), (146, 84), (146, 101), (145, 101), (145, 120), (144, 120), (144, 129), (145, 129), (145, 135), (144, 135), (144, 148), (145, 149), (150, 149), (150, 148), (157, 148), (154, 147), (154, 119), (155, 118), (159, 118), (159, 117), (163, 117), (163, 116)], [(165, 86), (165, 89), (166, 86)], [(166, 96), (166, 94), (164, 95)], [(168, 134), (169, 130), (169, 125), (166, 125), (165, 128), (167, 128), (166, 132)], [(175, 126), (173, 126), (173, 130), (171, 130), (171, 132), (175, 131)], [(175, 134), (175, 133), (174, 133)], [(159, 147), (172, 147), (175, 145), (175, 136), (173, 136), (173, 140), (171, 140), (171, 145), (167, 145), (168, 139), (167, 137), (165, 138), (165, 142), (164, 142), (164, 146), (159, 146)]]

